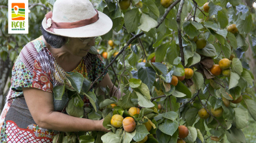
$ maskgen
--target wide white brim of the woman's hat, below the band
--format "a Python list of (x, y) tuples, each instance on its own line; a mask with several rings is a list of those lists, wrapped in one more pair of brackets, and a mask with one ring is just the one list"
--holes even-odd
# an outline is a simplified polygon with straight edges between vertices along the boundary
[(91, 23), (89, 25), (82, 26), (80, 28), (70, 28), (70, 29), (53, 29), (53, 32), (46, 30), (46, 17), (42, 21), (42, 26), (44, 30), (51, 34), (60, 35), (60, 36), (68, 36), (73, 38), (83, 38), (83, 37), (94, 37), (94, 36), (102, 36), (107, 34), (113, 26), (113, 22), (111, 19), (104, 13), (99, 13), (99, 19), (95, 23)]

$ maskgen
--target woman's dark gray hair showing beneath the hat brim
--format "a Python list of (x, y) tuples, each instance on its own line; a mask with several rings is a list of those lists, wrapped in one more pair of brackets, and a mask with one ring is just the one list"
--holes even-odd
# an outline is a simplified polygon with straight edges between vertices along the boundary
[(60, 48), (62, 47), (62, 45), (65, 45), (67, 42), (67, 39), (65, 36), (59, 36), (59, 35), (46, 32), (46, 30), (44, 30), (42, 26), (40, 27), (40, 30), (42, 31), (44, 39), (49, 45), (51, 45), (51, 47)]

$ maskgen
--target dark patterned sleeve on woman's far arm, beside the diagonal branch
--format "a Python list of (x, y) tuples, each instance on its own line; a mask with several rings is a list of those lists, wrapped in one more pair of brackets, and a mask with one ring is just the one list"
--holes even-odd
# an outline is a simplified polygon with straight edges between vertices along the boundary
[[(100, 74), (102, 74), (104, 72), (104, 69), (106, 67), (104, 66), (104, 63), (102, 61), (102, 58), (100, 56), (100, 54), (95, 55), (95, 60), (93, 63), (93, 81), (98, 78), (98, 76), (100, 76)], [(95, 87), (96, 85), (98, 85), (98, 83), (100, 83), (100, 81), (104, 78), (104, 76), (107, 74), (108, 70), (106, 70), (103, 74), (102, 77), (100, 77), (96, 83), (93, 85), (93, 87)], [(93, 82), (92, 81), (92, 82)]]

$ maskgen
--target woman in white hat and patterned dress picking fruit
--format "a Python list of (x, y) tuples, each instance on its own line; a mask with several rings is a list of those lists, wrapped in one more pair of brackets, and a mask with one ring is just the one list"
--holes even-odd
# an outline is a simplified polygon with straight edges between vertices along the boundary
[[(102, 74), (100, 55), (89, 50), (95, 37), (111, 28), (111, 19), (95, 10), (89, 0), (55, 2), (53, 12), (42, 21), (43, 35), (21, 50), (12, 68), (11, 87), (0, 119), (1, 142), (53, 142), (58, 131), (107, 131), (103, 120), (62, 113), (68, 96), (55, 100), (53, 88), (64, 85), (70, 72), (91, 81)], [(113, 86), (107, 72), (97, 83), (97, 87)], [(84, 102), (89, 100), (84, 97)]]

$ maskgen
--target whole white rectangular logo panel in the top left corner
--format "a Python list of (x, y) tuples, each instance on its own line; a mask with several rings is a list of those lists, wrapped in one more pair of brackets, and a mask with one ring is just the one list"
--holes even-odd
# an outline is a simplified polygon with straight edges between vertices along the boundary
[(9, 0), (8, 4), (8, 33), (28, 34), (28, 0)]

